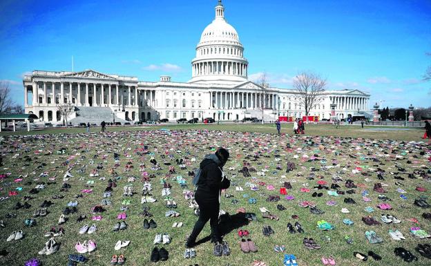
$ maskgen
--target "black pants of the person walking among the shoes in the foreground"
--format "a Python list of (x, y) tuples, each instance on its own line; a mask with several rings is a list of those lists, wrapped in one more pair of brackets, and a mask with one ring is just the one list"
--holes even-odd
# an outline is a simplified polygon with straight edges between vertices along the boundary
[(209, 220), (209, 225), (211, 226), (211, 241), (220, 242), (222, 237), (220, 236), (220, 231), (218, 229), (218, 213), (220, 211), (219, 202), (204, 202), (198, 195), (196, 195), (196, 202), (199, 205), (199, 218), (193, 227), (193, 231), (189, 236), (187, 243), (193, 244), (198, 238), (198, 235), (204, 229), (205, 224)]

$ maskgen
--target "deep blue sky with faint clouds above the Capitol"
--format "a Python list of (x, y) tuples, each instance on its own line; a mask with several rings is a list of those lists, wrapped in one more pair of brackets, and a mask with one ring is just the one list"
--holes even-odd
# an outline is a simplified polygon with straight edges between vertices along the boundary
[[(191, 78), (216, 0), (0, 1), (0, 80), (23, 103), (32, 70), (93, 69), (157, 81)], [(358, 88), (383, 106), (431, 106), (431, 1), (223, 0), (253, 80), (291, 88), (300, 70), (327, 89)]]

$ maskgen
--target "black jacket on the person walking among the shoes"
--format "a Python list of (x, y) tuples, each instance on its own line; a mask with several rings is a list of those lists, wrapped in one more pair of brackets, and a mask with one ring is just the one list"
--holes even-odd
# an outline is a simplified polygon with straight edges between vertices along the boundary
[(227, 178), (222, 178), (222, 171), (213, 160), (203, 160), (200, 169), (202, 172), (195, 193), (196, 200), (218, 204), (221, 189), (229, 188), (231, 182)]

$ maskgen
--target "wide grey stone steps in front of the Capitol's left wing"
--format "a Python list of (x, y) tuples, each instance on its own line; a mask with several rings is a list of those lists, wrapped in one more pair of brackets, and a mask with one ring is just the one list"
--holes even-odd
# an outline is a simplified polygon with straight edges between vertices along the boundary
[[(70, 120), (74, 125), (80, 123), (97, 124), (99, 125), (102, 121), (113, 122), (113, 111), (109, 107), (98, 107), (98, 106), (77, 106), (75, 108), (76, 117)], [(121, 122), (124, 124), (125, 120), (122, 120), (115, 116), (115, 122)]]

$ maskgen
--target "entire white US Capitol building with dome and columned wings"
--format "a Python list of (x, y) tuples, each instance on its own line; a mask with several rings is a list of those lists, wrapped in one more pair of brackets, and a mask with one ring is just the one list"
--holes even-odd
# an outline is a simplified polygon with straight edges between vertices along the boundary
[[(240, 37), (226, 19), (218, 1), (215, 19), (204, 29), (191, 61), (189, 82), (173, 82), (161, 76), (158, 82), (137, 77), (98, 73), (35, 70), (23, 79), (26, 113), (40, 121), (63, 122), (57, 106), (75, 106), (68, 121), (135, 122), (144, 120), (213, 117), (215, 120), (242, 120), (244, 117), (276, 119), (302, 117), (300, 95), (288, 88), (274, 88), (247, 79), (249, 62), (244, 57)], [(31, 96), (31, 102), (29, 102)], [(358, 90), (325, 91), (324, 99), (309, 115), (329, 119), (330, 104), (336, 115), (364, 115), (369, 111), (370, 94)]]

